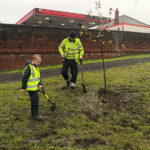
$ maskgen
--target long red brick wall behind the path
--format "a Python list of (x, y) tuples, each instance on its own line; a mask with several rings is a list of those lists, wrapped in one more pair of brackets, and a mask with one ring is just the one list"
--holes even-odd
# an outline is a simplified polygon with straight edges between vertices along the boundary
[[(0, 70), (22, 68), (35, 53), (42, 56), (41, 65), (59, 64), (58, 46), (74, 29), (0, 24)], [(79, 33), (79, 30), (74, 30)], [(91, 31), (96, 32), (96, 31)], [(105, 44), (105, 57), (127, 53), (150, 52), (150, 34), (112, 32), (113, 43)], [(98, 59), (99, 44), (80, 37), (85, 48), (85, 59)]]

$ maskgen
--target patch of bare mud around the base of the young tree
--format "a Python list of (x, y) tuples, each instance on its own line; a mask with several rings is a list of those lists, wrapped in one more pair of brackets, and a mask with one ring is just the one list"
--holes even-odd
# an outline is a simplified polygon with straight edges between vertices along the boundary
[(89, 119), (97, 121), (102, 116), (111, 117), (114, 113), (141, 114), (143, 101), (136, 90), (89, 92), (82, 97), (78, 110)]

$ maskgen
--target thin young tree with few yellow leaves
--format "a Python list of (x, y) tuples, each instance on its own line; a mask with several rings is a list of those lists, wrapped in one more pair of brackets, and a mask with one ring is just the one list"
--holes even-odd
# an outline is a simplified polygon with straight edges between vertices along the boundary
[[(102, 15), (100, 13), (101, 3), (100, 0), (95, 2), (95, 9), (98, 13), (97, 17), (100, 18), (99, 27), (97, 30), (89, 30), (88, 26), (82, 26), (82, 29), (80, 31), (80, 36), (86, 36), (90, 41), (94, 42), (96, 45), (98, 45), (98, 48), (100, 49), (101, 59), (102, 59), (102, 65), (103, 65), (103, 77), (104, 77), (104, 91), (106, 94), (107, 91), (107, 78), (106, 78), (106, 69), (105, 69), (105, 61), (104, 61), (104, 54), (105, 50), (111, 50), (113, 41), (112, 41), (112, 34), (109, 30), (101, 30), (101, 24), (103, 22)], [(109, 15), (112, 14), (113, 9), (109, 9)], [(89, 11), (89, 16), (92, 16), (92, 11)], [(91, 21), (89, 22), (91, 25)], [(108, 46), (109, 45), (109, 46)]]

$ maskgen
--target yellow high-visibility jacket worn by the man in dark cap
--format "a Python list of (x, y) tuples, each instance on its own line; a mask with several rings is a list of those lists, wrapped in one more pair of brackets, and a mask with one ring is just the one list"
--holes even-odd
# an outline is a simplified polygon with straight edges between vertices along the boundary
[(64, 39), (58, 49), (65, 58), (75, 59), (76, 62), (84, 55), (84, 48), (79, 38), (75, 38), (75, 42), (70, 42), (69, 37)]

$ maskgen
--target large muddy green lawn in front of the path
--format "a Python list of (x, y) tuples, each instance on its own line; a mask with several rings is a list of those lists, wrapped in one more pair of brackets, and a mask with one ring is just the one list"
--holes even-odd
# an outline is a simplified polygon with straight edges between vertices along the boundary
[(149, 150), (150, 147), (150, 63), (106, 70), (107, 88), (116, 95), (98, 98), (103, 72), (85, 72), (88, 93), (61, 90), (61, 76), (45, 78), (51, 104), (39, 93), (40, 113), (46, 119), (30, 119), (28, 93), (19, 82), (0, 84), (0, 149), (29, 150)]

